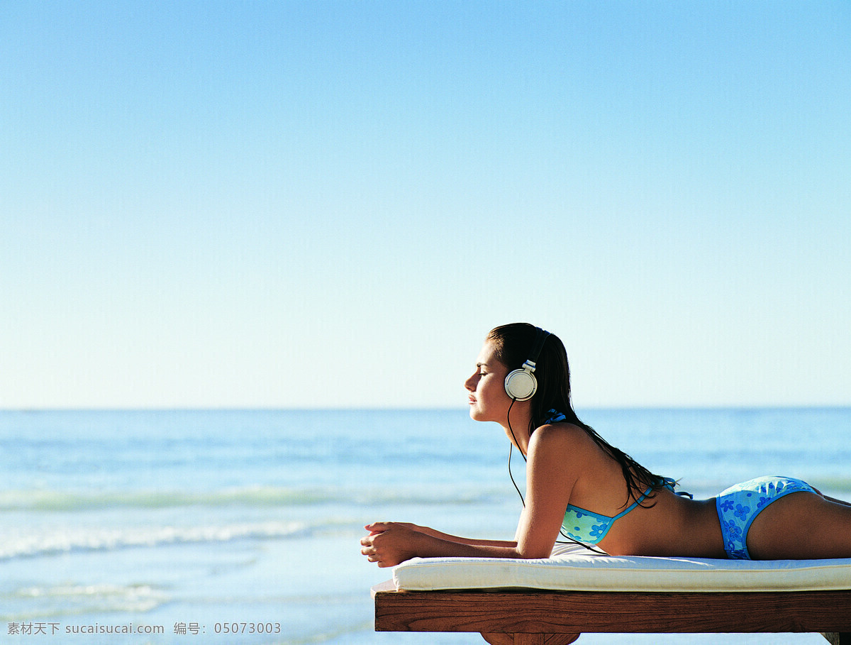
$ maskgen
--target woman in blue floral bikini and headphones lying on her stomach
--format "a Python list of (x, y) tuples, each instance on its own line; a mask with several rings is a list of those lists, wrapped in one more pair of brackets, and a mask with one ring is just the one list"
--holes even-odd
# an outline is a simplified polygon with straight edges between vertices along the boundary
[(470, 416), (503, 426), (527, 460), (512, 541), (465, 539), (400, 522), (365, 528), (361, 552), (379, 567), (411, 557), (549, 557), (561, 533), (610, 555), (851, 557), (851, 505), (806, 482), (761, 477), (717, 498), (677, 494), (576, 416), (564, 345), (527, 323), (494, 328), (465, 382)]

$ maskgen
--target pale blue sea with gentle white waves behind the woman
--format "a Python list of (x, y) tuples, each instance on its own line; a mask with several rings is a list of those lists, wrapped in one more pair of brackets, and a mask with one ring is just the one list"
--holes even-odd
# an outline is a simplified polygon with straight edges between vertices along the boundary
[[(695, 498), (761, 474), (851, 498), (848, 408), (580, 416)], [(520, 510), (502, 429), (465, 409), (5, 411), (0, 446), (4, 643), (483, 642), (375, 633), (369, 587), (391, 573), (358, 539), (376, 520), (511, 539)], [(523, 462), (512, 468), (523, 488)]]

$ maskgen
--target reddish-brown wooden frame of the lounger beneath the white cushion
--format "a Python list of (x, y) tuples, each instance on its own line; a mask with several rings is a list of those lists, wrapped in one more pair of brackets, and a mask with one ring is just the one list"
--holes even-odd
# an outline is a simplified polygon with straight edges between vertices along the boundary
[(851, 645), (847, 591), (372, 590), (375, 631), (477, 631), (492, 645), (563, 645), (583, 631), (820, 632)]

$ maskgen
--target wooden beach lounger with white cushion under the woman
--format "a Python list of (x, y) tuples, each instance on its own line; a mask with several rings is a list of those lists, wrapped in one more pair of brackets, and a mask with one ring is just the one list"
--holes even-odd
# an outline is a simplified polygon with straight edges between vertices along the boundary
[(472, 631), (492, 645), (582, 632), (820, 632), (851, 645), (851, 559), (414, 558), (373, 589), (375, 631)]

